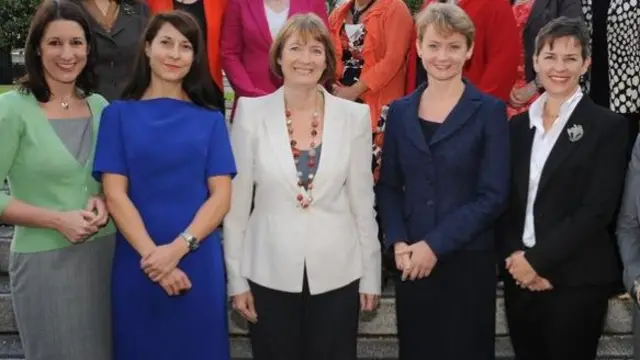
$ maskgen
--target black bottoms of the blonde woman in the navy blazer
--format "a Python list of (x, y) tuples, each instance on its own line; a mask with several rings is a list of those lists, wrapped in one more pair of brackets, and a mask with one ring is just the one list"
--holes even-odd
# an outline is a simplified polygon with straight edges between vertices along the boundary
[(492, 251), (443, 258), (422, 280), (398, 278), (400, 360), (494, 360), (496, 281)]

